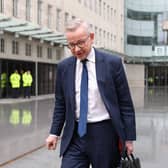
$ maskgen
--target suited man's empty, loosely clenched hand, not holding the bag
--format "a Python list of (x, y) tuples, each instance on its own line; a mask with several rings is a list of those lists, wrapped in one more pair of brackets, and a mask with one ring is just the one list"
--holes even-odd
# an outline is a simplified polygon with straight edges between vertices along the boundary
[(48, 138), (46, 139), (46, 146), (48, 150), (55, 150), (57, 147), (57, 142), (58, 142), (58, 137), (49, 135)]

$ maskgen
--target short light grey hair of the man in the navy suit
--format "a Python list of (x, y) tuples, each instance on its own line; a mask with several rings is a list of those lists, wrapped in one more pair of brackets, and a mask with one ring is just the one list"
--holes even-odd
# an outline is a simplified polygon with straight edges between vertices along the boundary
[(65, 26), (65, 32), (73, 32), (80, 26), (84, 27), (88, 34), (92, 32), (91, 25), (87, 23), (86, 21), (79, 19), (79, 18), (69, 21), (67, 25)]

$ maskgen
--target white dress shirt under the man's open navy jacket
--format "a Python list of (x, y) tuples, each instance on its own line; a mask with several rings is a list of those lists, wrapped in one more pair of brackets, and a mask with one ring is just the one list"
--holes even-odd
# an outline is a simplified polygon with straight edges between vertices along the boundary
[[(88, 61), (86, 62), (88, 70), (88, 114), (87, 122), (99, 122), (109, 119), (109, 113), (107, 112), (105, 105), (100, 96), (100, 92), (97, 85), (96, 78), (96, 60), (94, 48), (87, 56)], [(75, 99), (76, 99), (76, 119), (79, 120), (80, 115), (80, 85), (82, 76), (83, 65), (78, 59), (76, 62), (76, 78), (75, 78)]]

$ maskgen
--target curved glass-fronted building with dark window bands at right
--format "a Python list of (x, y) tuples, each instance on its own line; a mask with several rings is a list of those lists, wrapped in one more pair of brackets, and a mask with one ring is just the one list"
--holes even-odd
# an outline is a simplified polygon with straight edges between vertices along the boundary
[(146, 86), (168, 86), (168, 1), (125, 1), (125, 61), (143, 64)]

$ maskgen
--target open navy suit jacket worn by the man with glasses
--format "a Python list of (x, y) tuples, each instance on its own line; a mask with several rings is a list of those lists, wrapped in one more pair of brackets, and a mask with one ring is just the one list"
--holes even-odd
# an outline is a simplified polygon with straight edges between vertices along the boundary
[[(136, 139), (135, 112), (120, 57), (95, 49), (96, 76), (100, 95), (122, 142)], [(55, 108), (50, 133), (60, 135), (64, 127), (60, 155), (70, 144), (75, 128), (76, 58), (57, 66)]]

